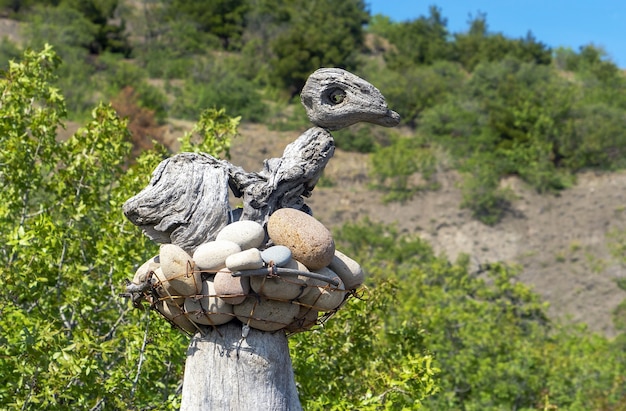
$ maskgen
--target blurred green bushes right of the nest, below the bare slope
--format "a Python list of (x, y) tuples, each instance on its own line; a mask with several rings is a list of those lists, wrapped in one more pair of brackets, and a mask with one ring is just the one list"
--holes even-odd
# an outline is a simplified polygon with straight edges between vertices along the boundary
[(397, 285), (386, 329), (412, 324), (439, 370), (439, 390), (423, 401), (425, 409), (590, 410), (626, 403), (619, 342), (550, 322), (538, 295), (516, 280), (517, 268), (488, 264), (473, 272), (469, 258), (449, 262), (424, 241), (371, 221), (346, 224), (335, 239), (364, 263), (371, 294), (380, 284)]

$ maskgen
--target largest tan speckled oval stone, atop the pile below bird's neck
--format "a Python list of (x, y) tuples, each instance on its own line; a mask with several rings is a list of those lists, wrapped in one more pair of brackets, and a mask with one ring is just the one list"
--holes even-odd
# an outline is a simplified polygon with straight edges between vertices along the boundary
[(274, 243), (289, 247), (293, 258), (310, 270), (326, 267), (335, 255), (330, 231), (294, 208), (276, 210), (267, 221), (267, 233)]

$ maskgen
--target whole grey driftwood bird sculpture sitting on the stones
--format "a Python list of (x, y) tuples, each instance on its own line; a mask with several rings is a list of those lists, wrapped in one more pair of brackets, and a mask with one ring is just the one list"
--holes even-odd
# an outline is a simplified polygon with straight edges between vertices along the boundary
[[(338, 68), (311, 74), (301, 100), (315, 127), (287, 145), (281, 158), (265, 160), (261, 171), (247, 172), (208, 154), (181, 153), (159, 164), (148, 186), (124, 204), (124, 214), (157, 243), (190, 253), (233, 221), (265, 226), (275, 210), (286, 207), (311, 214), (304, 198), (333, 156), (330, 131), (358, 122), (384, 127), (400, 122), (376, 87)], [(231, 209), (229, 188), (242, 198), (243, 208)]]

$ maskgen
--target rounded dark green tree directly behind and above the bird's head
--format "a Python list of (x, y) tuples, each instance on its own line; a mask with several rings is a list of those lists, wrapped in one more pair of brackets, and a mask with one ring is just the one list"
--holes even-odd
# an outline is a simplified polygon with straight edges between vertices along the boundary
[(262, 42), (246, 49), (248, 58), (266, 57), (259, 69), (268, 81), (295, 95), (320, 67), (357, 67), (368, 17), (362, 0), (263, 0), (250, 17), (250, 33)]

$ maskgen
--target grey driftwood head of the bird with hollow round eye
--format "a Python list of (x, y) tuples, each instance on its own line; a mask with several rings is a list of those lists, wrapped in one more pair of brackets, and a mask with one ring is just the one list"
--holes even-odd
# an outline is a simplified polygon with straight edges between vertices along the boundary
[(300, 94), (309, 120), (318, 127), (339, 130), (364, 121), (384, 127), (400, 123), (380, 91), (362, 78), (338, 68), (311, 74)]

